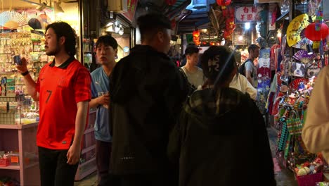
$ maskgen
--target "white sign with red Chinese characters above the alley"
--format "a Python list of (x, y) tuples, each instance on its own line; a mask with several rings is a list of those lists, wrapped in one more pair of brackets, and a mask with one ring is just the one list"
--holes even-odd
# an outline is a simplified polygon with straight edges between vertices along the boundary
[(264, 5), (253, 5), (253, 6), (236, 6), (236, 22), (256, 22), (266, 19), (266, 11)]

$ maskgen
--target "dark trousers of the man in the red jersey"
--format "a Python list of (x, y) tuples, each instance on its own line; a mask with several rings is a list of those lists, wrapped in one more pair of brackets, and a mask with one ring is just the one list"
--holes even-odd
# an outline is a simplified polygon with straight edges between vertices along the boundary
[(39, 147), (41, 186), (73, 186), (79, 163), (67, 164), (67, 150)]

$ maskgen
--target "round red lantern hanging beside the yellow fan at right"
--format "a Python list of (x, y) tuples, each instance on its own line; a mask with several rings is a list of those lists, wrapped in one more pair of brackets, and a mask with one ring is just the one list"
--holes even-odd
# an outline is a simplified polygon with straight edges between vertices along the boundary
[(322, 41), (322, 39), (325, 39), (329, 34), (328, 26), (325, 25), (325, 23), (321, 24), (318, 31), (316, 30), (316, 26), (318, 26), (316, 24), (318, 23), (311, 23), (305, 28), (305, 37), (313, 42)]

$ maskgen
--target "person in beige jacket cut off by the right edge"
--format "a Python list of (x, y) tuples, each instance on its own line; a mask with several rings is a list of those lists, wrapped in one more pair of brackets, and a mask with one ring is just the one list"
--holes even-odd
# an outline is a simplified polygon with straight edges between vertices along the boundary
[(329, 67), (318, 75), (311, 93), (302, 139), (312, 153), (322, 152), (329, 162)]

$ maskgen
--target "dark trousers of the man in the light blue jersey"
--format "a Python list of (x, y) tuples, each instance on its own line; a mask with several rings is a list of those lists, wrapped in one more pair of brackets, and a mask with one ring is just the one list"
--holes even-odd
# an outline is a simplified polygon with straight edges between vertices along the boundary
[(96, 140), (96, 164), (98, 173), (98, 182), (108, 176), (110, 171), (112, 142), (103, 142)]

